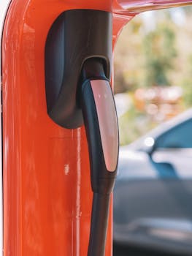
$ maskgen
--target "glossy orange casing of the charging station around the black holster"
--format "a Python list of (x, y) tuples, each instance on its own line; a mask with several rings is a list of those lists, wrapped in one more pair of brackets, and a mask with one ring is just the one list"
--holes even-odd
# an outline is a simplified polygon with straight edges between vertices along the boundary
[[(47, 32), (65, 10), (114, 12), (113, 42), (134, 12), (127, 2), (12, 0), (2, 43), (4, 256), (85, 256), (91, 184), (84, 128), (58, 127), (47, 116)], [(112, 211), (106, 255), (112, 255)]]

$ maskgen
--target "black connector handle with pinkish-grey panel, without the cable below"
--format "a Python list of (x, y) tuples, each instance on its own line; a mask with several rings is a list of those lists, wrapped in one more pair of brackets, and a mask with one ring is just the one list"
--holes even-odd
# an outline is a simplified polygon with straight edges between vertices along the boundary
[(108, 80), (85, 80), (82, 113), (88, 139), (93, 192), (110, 194), (118, 165), (118, 118)]

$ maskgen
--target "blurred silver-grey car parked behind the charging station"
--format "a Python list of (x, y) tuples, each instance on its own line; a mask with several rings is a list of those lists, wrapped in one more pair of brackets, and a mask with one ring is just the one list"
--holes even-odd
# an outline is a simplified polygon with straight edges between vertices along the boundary
[(192, 109), (121, 147), (118, 172), (115, 245), (192, 255)]

